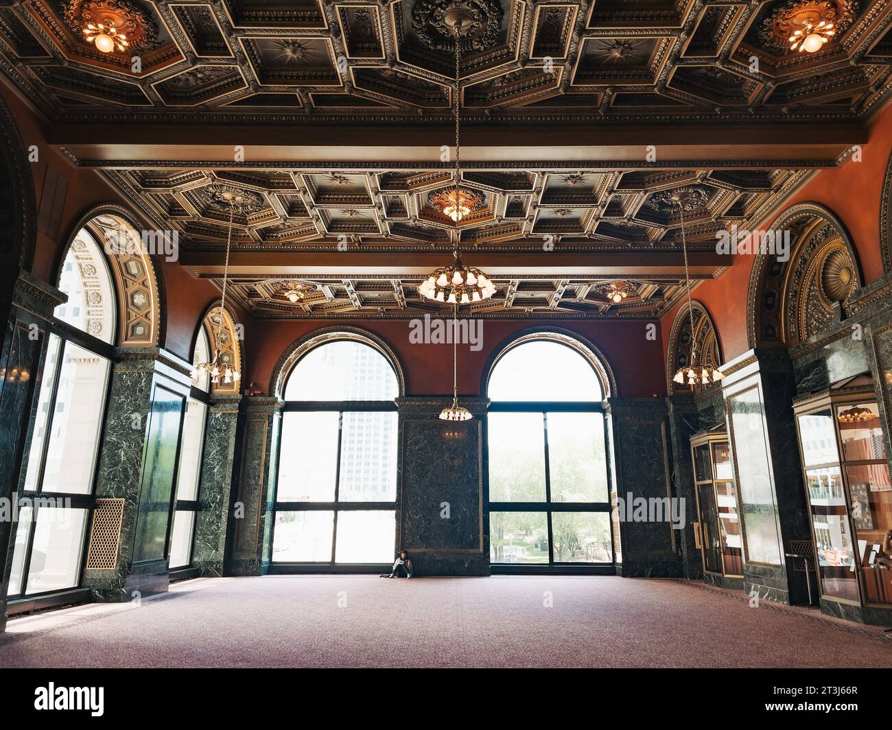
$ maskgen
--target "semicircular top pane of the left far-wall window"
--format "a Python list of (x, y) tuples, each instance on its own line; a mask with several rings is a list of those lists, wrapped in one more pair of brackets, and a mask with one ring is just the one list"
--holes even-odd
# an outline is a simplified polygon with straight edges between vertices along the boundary
[(347, 340), (311, 349), (285, 385), (285, 400), (392, 400), (398, 395), (387, 359), (368, 345)]

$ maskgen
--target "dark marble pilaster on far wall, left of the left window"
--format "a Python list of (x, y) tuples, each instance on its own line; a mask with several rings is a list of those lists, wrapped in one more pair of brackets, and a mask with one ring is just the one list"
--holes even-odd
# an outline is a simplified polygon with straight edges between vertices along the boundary
[(230, 538), (225, 574), (266, 573), (272, 545), (278, 434), (283, 402), (278, 398), (243, 398), (235, 441), (235, 495), (229, 511)]

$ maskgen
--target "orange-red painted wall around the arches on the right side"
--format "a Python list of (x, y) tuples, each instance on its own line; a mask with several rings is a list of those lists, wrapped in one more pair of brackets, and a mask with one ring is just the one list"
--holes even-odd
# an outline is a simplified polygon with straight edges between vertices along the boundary
[[(876, 281), (883, 275), (880, 254), (880, 196), (883, 174), (892, 151), (892, 105), (880, 113), (870, 128), (870, 137), (863, 145), (862, 161), (849, 161), (841, 168), (822, 170), (814, 176), (777, 216), (764, 224), (770, 229), (783, 210), (800, 202), (814, 202), (830, 209), (855, 244), (861, 262), (863, 283)], [(724, 361), (728, 362), (749, 349), (747, 344), (747, 291), (754, 256), (734, 255), (731, 268), (718, 279), (701, 283), (694, 299), (712, 315), (722, 343)], [(661, 320), (663, 352), (668, 352), (669, 333), (679, 307)]]

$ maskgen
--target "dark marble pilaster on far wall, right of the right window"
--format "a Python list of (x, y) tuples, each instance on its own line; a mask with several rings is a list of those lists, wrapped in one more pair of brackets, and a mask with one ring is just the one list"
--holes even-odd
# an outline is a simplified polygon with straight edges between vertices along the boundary
[[(617, 565), (617, 573), (631, 578), (681, 578), (679, 530), (670, 521), (650, 519), (650, 515), (636, 518), (629, 507), (639, 497), (666, 504), (665, 500), (678, 496), (673, 494), (665, 400), (608, 398), (607, 414), (614, 445), (615, 491), (626, 504), (626, 513), (620, 515), (622, 564)], [(683, 504), (687, 524), (696, 506), (687, 500)]]

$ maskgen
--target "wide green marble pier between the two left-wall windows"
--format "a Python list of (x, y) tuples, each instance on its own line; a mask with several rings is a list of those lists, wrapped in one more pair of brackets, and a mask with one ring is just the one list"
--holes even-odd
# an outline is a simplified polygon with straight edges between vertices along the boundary
[[(95, 495), (122, 500), (123, 515), (114, 565), (87, 561), (84, 585), (96, 601), (168, 589), (169, 521), (190, 383), (189, 365), (164, 350), (116, 353)], [(89, 548), (98, 546), (91, 538)]]

